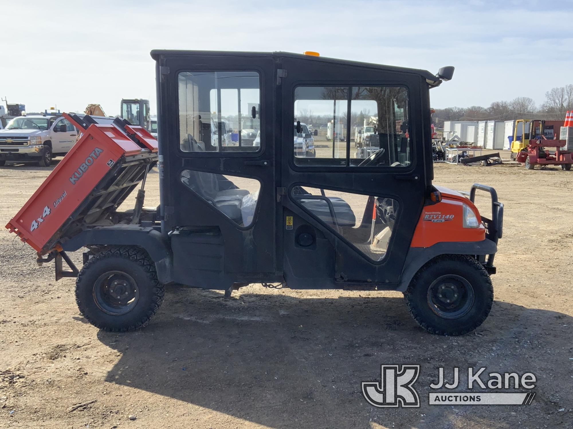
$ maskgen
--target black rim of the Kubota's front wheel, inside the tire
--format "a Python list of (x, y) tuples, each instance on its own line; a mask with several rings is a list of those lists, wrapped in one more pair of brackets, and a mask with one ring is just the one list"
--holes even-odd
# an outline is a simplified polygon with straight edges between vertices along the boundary
[(443, 319), (458, 319), (468, 314), (474, 298), (469, 281), (454, 274), (438, 277), (427, 292), (428, 305)]

